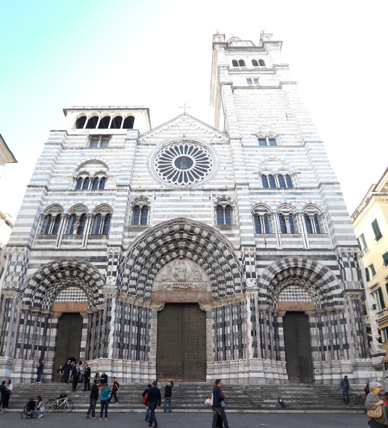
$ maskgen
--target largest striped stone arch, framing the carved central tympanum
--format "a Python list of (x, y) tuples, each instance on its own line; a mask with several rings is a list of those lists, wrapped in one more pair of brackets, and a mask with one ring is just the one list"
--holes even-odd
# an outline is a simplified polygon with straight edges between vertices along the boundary
[(121, 291), (150, 298), (156, 273), (179, 256), (206, 271), (212, 298), (242, 292), (242, 269), (233, 247), (217, 230), (186, 218), (153, 227), (129, 247), (122, 263)]

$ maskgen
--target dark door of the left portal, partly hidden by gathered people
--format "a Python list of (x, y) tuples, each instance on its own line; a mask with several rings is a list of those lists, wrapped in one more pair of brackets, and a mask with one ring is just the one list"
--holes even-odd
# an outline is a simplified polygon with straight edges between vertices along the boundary
[(81, 338), (83, 319), (80, 313), (64, 313), (58, 320), (57, 340), (55, 343), (55, 355), (53, 375), (56, 375), (61, 362), (67, 362), (74, 357), (80, 360)]

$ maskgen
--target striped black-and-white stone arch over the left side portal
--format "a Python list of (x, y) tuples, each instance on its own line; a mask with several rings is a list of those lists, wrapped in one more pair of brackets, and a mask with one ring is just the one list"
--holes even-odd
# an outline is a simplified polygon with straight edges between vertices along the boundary
[(22, 304), (50, 310), (55, 296), (70, 283), (85, 291), (91, 306), (103, 303), (100, 272), (91, 263), (72, 258), (49, 262), (33, 273), (23, 284)]

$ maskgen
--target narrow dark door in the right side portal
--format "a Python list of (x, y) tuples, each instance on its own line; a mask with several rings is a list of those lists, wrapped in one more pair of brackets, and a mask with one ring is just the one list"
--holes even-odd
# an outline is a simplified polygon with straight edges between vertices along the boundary
[(310, 326), (303, 312), (287, 312), (283, 318), (287, 374), (290, 382), (313, 381)]

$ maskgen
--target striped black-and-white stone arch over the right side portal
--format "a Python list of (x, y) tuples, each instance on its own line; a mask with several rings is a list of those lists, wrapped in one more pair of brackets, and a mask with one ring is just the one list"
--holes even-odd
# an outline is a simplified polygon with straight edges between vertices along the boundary
[(311, 296), (315, 309), (344, 305), (342, 287), (333, 272), (306, 257), (286, 257), (268, 266), (259, 278), (262, 305), (276, 306), (276, 296), (289, 285), (299, 285)]

